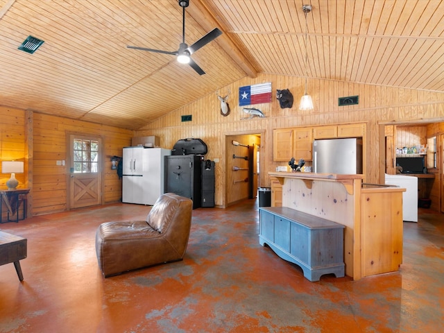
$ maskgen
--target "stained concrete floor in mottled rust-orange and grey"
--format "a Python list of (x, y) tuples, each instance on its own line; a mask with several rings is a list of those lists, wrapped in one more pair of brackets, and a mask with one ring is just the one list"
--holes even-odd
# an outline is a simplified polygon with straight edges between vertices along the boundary
[(0, 332), (444, 332), (443, 214), (404, 223), (400, 271), (309, 282), (259, 245), (257, 200), (199, 208), (182, 262), (104, 279), (96, 228), (148, 210), (114, 204), (1, 224), (28, 239), (28, 257), (23, 282), (0, 266)]

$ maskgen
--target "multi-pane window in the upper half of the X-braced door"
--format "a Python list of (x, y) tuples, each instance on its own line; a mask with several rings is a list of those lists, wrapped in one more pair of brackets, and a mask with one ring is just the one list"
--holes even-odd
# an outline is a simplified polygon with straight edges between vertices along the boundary
[(74, 172), (92, 173), (99, 171), (99, 142), (74, 139)]

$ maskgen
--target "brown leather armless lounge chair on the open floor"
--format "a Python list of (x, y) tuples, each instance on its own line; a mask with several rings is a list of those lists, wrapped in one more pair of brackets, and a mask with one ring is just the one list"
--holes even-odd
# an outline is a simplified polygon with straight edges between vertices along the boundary
[(162, 194), (145, 221), (102, 223), (96, 231), (96, 255), (103, 276), (182, 260), (187, 249), (193, 202)]

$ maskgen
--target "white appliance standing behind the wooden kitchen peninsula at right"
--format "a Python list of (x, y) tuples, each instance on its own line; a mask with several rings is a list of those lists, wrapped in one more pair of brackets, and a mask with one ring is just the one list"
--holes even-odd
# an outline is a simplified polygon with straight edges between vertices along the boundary
[(406, 189), (402, 192), (402, 220), (418, 222), (418, 177), (386, 174), (386, 185)]

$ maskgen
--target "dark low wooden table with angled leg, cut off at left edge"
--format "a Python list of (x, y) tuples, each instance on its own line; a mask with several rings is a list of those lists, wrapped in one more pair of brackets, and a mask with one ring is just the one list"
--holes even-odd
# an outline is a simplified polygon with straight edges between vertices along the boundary
[(28, 239), (0, 231), (0, 266), (13, 262), (20, 281), (23, 281), (23, 273), (19, 260), (26, 258), (27, 245)]

